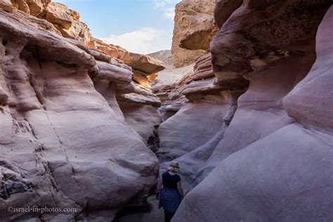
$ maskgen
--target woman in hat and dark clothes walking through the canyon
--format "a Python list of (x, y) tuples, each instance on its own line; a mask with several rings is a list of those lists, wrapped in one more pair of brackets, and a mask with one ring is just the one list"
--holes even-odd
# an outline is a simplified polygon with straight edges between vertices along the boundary
[(184, 197), (181, 187), (181, 177), (178, 175), (179, 164), (176, 161), (171, 162), (169, 170), (162, 174), (157, 184), (157, 192), (163, 188), (159, 195), (159, 208), (164, 209), (165, 222), (171, 221), (176, 210)]

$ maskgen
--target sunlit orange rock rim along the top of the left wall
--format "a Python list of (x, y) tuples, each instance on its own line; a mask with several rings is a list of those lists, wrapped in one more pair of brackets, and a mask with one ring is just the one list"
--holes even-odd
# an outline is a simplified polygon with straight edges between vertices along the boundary
[[(157, 72), (164, 70), (164, 65), (161, 61), (155, 60), (148, 55), (131, 53), (120, 46), (105, 44), (105, 42), (93, 38), (89, 27), (79, 21), (79, 13), (63, 4), (51, 2), (51, 0), (3, 0), (0, 4), (1, 8), (6, 11), (13, 12), (18, 9), (37, 18), (42, 18), (43, 20), (34, 20), (34, 23), (44, 22), (47, 24), (45, 26), (48, 26), (44, 27), (45, 29), (61, 34), (65, 38), (81, 41), (84, 45), (80, 47), (89, 48), (89, 53), (94, 56), (101, 51), (103, 53), (99, 53), (100, 56), (109, 55), (112, 58), (122, 60), (126, 65), (133, 68), (134, 79), (138, 84), (146, 88), (150, 87), (150, 84), (157, 76)], [(30, 20), (32, 19), (30, 18)], [(98, 59), (101, 58), (99, 57)], [(105, 58), (102, 58), (102, 60), (105, 61)], [(107, 62), (108, 60), (107, 58)]]

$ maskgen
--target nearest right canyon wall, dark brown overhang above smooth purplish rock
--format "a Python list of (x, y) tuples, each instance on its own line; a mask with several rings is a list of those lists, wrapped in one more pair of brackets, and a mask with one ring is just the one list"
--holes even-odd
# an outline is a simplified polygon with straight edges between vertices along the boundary
[(228, 4), (215, 11), (215, 86), (243, 78), (249, 89), (207, 162), (193, 166), (199, 184), (174, 221), (331, 221), (332, 3)]

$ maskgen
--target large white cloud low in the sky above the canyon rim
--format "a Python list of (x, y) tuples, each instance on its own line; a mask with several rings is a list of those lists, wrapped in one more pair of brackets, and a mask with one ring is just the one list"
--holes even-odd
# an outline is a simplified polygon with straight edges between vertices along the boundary
[(148, 54), (171, 48), (171, 36), (164, 30), (144, 27), (124, 34), (111, 34), (102, 38), (108, 44), (115, 44), (135, 53)]

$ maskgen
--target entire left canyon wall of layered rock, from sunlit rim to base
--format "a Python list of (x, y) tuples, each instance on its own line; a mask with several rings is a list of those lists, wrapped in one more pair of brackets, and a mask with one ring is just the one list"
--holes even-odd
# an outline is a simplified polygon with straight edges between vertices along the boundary
[[(146, 143), (159, 124), (160, 100), (133, 71), (150, 76), (162, 64), (118, 46), (112, 56), (91, 48), (86, 35), (67, 36), (62, 30), (75, 29), (79, 15), (63, 5), (17, 2), (29, 10), (0, 4), (0, 220), (112, 219), (155, 188), (158, 162)], [(36, 5), (44, 9), (37, 13)], [(157, 116), (149, 129), (137, 128), (135, 117), (148, 114)], [(8, 211), (13, 206), (75, 211)]]

